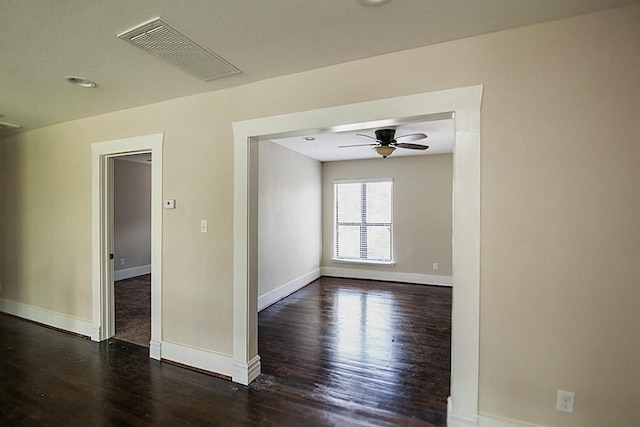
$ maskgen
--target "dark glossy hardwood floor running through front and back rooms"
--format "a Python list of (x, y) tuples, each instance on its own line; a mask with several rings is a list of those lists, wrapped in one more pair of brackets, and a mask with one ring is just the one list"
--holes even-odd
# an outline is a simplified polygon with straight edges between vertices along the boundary
[(0, 316), (2, 425), (444, 425), (451, 290), (323, 278), (259, 315), (249, 387)]

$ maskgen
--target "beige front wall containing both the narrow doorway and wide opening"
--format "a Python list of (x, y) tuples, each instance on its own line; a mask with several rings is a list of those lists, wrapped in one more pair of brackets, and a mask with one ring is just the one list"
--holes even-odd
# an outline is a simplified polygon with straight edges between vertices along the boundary
[[(164, 132), (180, 206), (163, 217), (164, 338), (231, 354), (231, 123), (481, 83), (480, 411), (639, 425), (638, 22), (634, 5), (2, 141), (0, 296), (90, 320), (90, 144)], [(557, 388), (576, 392), (573, 415)]]

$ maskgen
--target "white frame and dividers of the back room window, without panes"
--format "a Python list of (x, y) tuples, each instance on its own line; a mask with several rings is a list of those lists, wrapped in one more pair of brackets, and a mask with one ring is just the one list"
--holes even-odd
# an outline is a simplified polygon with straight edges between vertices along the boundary
[[(366, 221), (366, 184), (370, 183), (390, 183), (391, 184), (391, 203), (390, 203), (390, 215), (391, 222), (372, 222), (369, 223)], [(338, 222), (338, 191), (337, 186), (340, 184), (361, 184), (361, 206), (360, 206), (360, 218), (359, 222), (353, 221), (343, 221)], [(362, 178), (362, 179), (337, 179), (333, 181), (333, 255), (331, 258), (332, 262), (336, 263), (345, 263), (345, 264), (369, 264), (369, 265), (395, 265), (394, 258), (394, 232), (393, 232), (393, 205), (394, 205), (394, 197), (393, 197), (393, 187), (394, 181), (393, 178)], [(363, 193), (364, 192), (364, 193)], [(340, 226), (357, 226), (360, 227), (360, 257), (359, 258), (339, 258), (338, 257), (338, 227)], [(367, 259), (366, 258), (366, 235), (367, 233), (363, 233), (363, 228), (366, 227), (389, 227), (390, 232), (390, 247), (389, 247), (389, 259)], [(364, 236), (364, 246), (363, 246), (363, 236)]]

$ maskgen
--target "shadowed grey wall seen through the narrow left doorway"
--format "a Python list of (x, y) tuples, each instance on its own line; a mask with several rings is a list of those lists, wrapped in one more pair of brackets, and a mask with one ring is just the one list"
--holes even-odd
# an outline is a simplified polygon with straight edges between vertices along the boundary
[(113, 169), (113, 269), (150, 265), (151, 165), (115, 159)]

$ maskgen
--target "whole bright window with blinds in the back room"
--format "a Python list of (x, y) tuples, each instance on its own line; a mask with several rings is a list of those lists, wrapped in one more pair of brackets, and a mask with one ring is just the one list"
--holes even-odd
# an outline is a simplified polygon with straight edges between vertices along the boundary
[(393, 181), (334, 182), (335, 260), (393, 262)]

